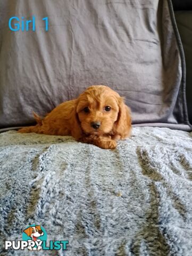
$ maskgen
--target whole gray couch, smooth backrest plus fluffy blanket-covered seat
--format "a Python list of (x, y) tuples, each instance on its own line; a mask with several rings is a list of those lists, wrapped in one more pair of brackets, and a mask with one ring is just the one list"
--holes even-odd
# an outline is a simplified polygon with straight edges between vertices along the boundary
[[(0, 2), (0, 255), (191, 256), (192, 132), (171, 1)], [(32, 15), (36, 31), (7, 28)], [(16, 132), (93, 84), (132, 110), (116, 149)], [(5, 250), (29, 225), (67, 250)]]

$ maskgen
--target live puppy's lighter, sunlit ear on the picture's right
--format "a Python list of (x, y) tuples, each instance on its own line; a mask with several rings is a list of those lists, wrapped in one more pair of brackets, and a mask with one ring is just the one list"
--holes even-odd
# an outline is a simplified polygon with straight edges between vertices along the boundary
[(116, 133), (121, 139), (127, 138), (131, 134), (131, 110), (124, 103), (124, 99), (119, 99), (119, 114), (116, 121)]

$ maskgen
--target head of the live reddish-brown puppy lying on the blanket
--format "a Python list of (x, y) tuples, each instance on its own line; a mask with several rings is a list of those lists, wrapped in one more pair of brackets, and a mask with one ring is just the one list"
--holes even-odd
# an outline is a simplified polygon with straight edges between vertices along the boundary
[[(104, 135), (130, 129), (130, 113), (120, 95), (104, 85), (94, 85), (80, 94), (77, 118), (86, 134)], [(121, 127), (122, 126), (122, 127)]]

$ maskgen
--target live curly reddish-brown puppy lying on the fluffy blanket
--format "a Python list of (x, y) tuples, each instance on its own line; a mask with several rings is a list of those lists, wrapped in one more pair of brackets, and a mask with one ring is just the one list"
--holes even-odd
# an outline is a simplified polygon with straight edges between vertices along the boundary
[(114, 149), (116, 140), (131, 133), (130, 109), (120, 95), (104, 85), (93, 85), (77, 99), (66, 101), (41, 119), (34, 113), (37, 125), (23, 127), (21, 133), (71, 135), (80, 142), (103, 149)]

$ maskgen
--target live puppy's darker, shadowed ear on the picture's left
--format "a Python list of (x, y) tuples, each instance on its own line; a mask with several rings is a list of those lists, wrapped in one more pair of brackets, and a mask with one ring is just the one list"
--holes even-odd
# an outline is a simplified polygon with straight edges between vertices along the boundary
[(74, 109), (71, 113), (71, 135), (76, 140), (82, 137), (82, 129), (77, 114), (77, 104), (78, 101), (75, 102)]

